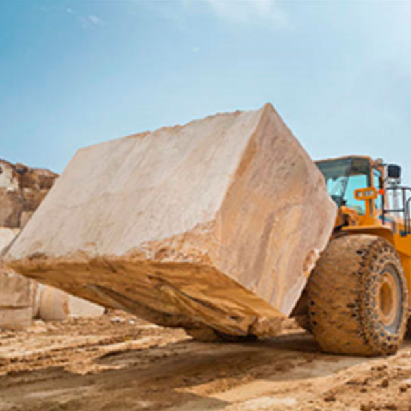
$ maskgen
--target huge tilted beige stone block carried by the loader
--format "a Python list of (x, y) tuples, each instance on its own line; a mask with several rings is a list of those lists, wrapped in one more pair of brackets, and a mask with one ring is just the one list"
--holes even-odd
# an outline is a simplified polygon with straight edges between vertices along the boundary
[(79, 150), (6, 258), (159, 324), (267, 335), (335, 216), (321, 173), (265, 105)]

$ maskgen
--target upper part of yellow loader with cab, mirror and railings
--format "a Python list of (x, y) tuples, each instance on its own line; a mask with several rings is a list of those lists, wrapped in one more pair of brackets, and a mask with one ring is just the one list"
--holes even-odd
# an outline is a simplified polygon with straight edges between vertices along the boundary
[(344, 216), (352, 216), (352, 212), (357, 215), (343, 225), (388, 223), (401, 236), (411, 234), (411, 187), (400, 185), (400, 166), (365, 156), (319, 160), (316, 165), (340, 212)]

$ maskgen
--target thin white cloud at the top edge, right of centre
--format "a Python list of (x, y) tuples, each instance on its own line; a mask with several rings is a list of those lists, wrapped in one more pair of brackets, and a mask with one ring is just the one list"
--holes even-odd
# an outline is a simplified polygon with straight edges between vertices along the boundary
[(265, 23), (273, 29), (292, 27), (278, 0), (204, 0), (221, 20), (231, 23)]

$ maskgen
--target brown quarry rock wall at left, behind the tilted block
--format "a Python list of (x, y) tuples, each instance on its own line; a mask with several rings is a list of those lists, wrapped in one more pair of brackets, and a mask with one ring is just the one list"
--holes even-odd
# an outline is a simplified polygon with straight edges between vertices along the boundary
[(1, 260), (1, 252), (29, 221), (55, 177), (46, 169), (0, 160), (0, 328), (27, 327), (39, 314), (45, 320), (103, 314), (103, 307), (22, 277)]

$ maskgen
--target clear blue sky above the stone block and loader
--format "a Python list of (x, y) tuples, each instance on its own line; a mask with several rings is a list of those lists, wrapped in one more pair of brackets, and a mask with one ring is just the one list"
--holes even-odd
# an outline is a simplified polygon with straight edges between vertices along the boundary
[(402, 164), (411, 1), (0, 0), (0, 158), (273, 103), (313, 158)]

